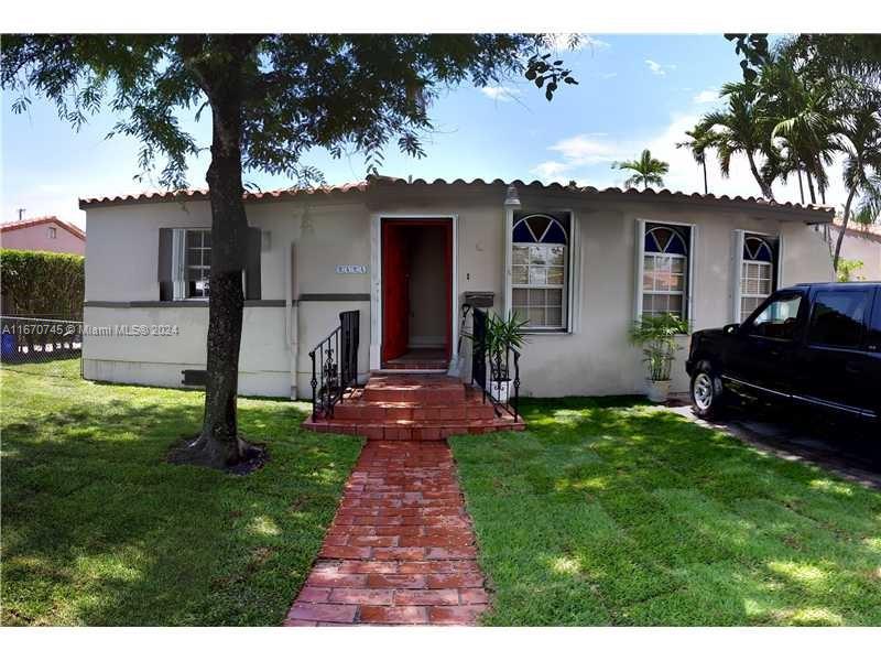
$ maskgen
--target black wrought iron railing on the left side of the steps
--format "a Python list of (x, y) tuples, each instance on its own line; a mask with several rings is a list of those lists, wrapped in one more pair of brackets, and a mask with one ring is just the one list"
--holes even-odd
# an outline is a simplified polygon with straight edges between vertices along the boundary
[(334, 328), (309, 351), (312, 358), (312, 416), (333, 418), (334, 407), (358, 380), (360, 313), (339, 314)]

